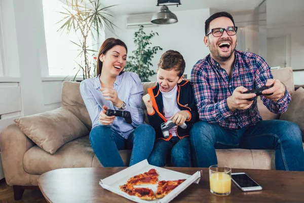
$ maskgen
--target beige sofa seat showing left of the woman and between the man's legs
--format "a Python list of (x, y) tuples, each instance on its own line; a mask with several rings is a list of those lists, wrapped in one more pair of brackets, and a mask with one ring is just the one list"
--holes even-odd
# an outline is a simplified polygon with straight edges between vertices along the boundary
[[(120, 150), (119, 153), (128, 166), (131, 150)], [(274, 150), (216, 149), (216, 155), (218, 164), (232, 168), (275, 169)], [(58, 168), (102, 167), (89, 136), (66, 143), (54, 155), (34, 146), (25, 153), (23, 166), (29, 174), (43, 174)]]

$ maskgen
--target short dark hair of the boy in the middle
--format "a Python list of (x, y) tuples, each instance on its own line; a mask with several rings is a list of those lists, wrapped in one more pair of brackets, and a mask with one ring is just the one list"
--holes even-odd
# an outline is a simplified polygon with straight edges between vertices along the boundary
[(168, 50), (161, 56), (158, 63), (158, 69), (167, 71), (174, 70), (178, 72), (180, 78), (185, 71), (186, 63), (182, 55), (178, 51)]

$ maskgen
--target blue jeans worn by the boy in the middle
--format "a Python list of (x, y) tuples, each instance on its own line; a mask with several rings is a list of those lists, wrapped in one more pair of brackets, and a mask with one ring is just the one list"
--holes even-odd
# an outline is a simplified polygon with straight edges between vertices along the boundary
[(149, 164), (163, 167), (170, 157), (175, 167), (191, 167), (191, 150), (189, 137), (179, 139), (172, 137), (169, 141), (158, 139), (148, 159)]

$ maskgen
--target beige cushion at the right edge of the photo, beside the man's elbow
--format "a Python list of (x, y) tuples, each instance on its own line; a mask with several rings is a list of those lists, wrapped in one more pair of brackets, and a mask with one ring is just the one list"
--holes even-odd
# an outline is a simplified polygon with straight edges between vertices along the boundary
[(281, 120), (288, 120), (299, 125), (304, 141), (304, 89), (298, 88), (292, 95), (287, 111), (281, 115)]

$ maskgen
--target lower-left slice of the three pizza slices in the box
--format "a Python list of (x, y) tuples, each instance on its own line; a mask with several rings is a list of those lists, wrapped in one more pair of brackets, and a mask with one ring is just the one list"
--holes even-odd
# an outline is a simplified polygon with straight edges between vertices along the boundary
[(121, 185), (119, 186), (120, 190), (122, 190), (123, 192), (126, 192), (127, 194), (131, 195), (131, 196), (137, 196), (141, 199), (144, 200), (154, 200), (155, 199), (155, 195), (153, 190), (149, 189), (149, 188), (140, 188), (140, 187), (136, 187), (134, 188), (132, 185)]

